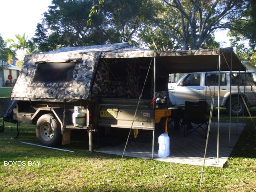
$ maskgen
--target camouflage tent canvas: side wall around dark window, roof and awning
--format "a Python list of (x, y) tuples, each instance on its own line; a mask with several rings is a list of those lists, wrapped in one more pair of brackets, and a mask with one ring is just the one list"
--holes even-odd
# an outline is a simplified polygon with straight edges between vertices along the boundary
[[(12, 97), (20, 99), (90, 99), (94, 76), (99, 60), (117, 60), (126, 63), (127, 59), (149, 63), (156, 58), (156, 67), (168, 73), (216, 71), (221, 58), (221, 70), (244, 70), (244, 66), (232, 48), (209, 50), (154, 51), (136, 48), (128, 43), (96, 45), (86, 47), (65, 47), (39, 54), (27, 55), (20, 76), (14, 86)], [(32, 80), (37, 64), (45, 62), (61, 63), (63, 60), (79, 59), (70, 82), (34, 82)], [(120, 62), (118, 62), (120, 60)], [(110, 61), (111, 62), (111, 61)], [(24, 88), (25, 87), (25, 88)]]

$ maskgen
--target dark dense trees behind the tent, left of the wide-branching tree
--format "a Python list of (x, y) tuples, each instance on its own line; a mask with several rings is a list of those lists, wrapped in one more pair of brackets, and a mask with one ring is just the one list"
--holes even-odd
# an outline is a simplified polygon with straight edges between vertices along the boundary
[(62, 46), (135, 43), (150, 9), (145, 0), (54, 0), (37, 25), (40, 51)]

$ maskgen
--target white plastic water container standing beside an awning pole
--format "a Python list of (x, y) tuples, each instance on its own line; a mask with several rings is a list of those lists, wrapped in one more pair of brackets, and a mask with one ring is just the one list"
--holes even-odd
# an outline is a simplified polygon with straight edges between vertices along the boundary
[(167, 157), (170, 155), (170, 138), (168, 133), (162, 133), (158, 137), (159, 150), (158, 157)]

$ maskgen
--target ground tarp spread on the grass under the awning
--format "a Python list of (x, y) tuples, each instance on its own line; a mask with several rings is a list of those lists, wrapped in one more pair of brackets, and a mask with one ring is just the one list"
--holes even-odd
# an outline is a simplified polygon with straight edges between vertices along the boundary
[[(206, 153), (205, 166), (223, 167), (245, 124), (231, 124), (231, 139), (229, 145), (229, 123), (220, 123), (220, 151), (219, 162), (217, 164), (217, 123), (211, 124), (208, 148)], [(158, 158), (158, 143), (155, 142), (154, 160), (173, 162), (180, 164), (190, 164), (203, 166), (204, 164), (204, 150), (206, 139), (200, 136), (197, 132), (192, 132), (188, 136), (183, 136), (183, 130), (171, 129), (168, 131), (170, 137), (170, 156), (166, 158)], [(139, 136), (138, 136), (139, 137)], [(142, 139), (144, 140), (144, 139)], [(150, 141), (150, 138), (147, 139)], [(157, 138), (156, 138), (157, 140)], [(122, 156), (124, 150), (124, 143), (118, 146), (106, 146), (97, 149), (96, 152), (107, 154), (116, 154)], [(146, 142), (128, 142), (124, 156), (135, 158), (152, 158), (152, 144)]]

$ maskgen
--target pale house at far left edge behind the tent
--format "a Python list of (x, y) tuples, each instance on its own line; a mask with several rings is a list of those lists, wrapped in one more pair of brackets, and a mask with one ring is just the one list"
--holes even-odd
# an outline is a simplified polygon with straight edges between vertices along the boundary
[[(19, 74), (20, 74), (20, 70), (21, 68), (12, 65), (12, 64), (8, 64), (7, 62), (2, 62), (1, 63), (1, 67), (0, 67), (0, 78), (2, 78), (2, 81), (0, 81), (2, 84), (1, 86), (14, 86)], [(4, 67), (4, 69), (2, 69), (2, 65), (7, 66)], [(4, 72), (3, 72), (4, 70)], [(3, 76), (4, 74), (4, 76)]]

